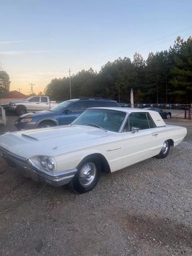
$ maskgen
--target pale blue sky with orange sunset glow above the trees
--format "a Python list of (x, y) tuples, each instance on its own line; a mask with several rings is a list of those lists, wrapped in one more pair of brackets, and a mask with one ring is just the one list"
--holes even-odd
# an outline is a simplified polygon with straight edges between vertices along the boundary
[(191, 0), (1, 1), (0, 68), (10, 90), (38, 93), (52, 78), (135, 52), (168, 49), (192, 35)]

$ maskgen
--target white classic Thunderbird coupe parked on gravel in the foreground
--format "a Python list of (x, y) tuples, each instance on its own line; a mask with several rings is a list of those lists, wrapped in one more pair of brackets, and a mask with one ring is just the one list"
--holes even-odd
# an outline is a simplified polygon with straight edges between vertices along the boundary
[(78, 193), (94, 188), (101, 172), (115, 172), (157, 156), (186, 136), (159, 113), (132, 108), (90, 108), (72, 124), (0, 136), (1, 156), (25, 177)]

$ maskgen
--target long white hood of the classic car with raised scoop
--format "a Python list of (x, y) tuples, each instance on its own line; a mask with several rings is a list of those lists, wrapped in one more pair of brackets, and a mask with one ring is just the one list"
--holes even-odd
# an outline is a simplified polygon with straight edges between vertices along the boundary
[(82, 145), (84, 141), (107, 137), (97, 127), (84, 125), (63, 125), (45, 129), (8, 132), (0, 136), (0, 146), (11, 153), (29, 158), (35, 155), (54, 156), (67, 153)]

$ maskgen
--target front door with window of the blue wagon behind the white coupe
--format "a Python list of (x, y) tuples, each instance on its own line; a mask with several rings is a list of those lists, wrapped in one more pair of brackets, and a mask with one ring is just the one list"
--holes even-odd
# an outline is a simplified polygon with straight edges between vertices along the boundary
[(71, 104), (67, 109), (63, 110), (59, 116), (59, 125), (72, 123), (86, 109), (85, 101), (78, 101)]

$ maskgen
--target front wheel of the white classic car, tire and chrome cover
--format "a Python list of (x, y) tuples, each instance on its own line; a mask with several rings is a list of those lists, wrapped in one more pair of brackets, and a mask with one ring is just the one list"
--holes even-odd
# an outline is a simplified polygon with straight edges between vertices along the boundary
[(75, 177), (69, 183), (70, 189), (78, 193), (92, 190), (97, 185), (101, 174), (99, 159), (88, 157), (79, 164), (77, 170)]

